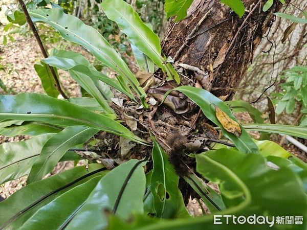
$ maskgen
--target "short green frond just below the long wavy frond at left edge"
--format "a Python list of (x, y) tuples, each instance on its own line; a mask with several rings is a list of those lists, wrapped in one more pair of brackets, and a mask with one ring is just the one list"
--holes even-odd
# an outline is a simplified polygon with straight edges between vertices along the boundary
[(21, 125), (11, 125), (0, 128), (0, 134), (5, 136), (30, 135), (37, 136), (45, 133), (57, 133), (62, 130), (61, 127), (39, 122), (24, 122)]

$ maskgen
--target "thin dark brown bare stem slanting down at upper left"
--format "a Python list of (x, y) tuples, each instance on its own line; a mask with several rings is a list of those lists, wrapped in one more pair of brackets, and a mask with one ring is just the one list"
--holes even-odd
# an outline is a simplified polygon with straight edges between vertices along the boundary
[[(23, 11), (24, 11), (24, 13), (26, 15), (26, 19), (27, 19), (27, 22), (29, 24), (29, 27), (31, 28), (31, 30), (32, 30), (32, 32), (34, 34), (34, 37), (35, 37), (35, 39), (36, 39), (36, 41), (37, 41), (37, 43), (39, 45), (39, 48), (41, 50), (41, 53), (43, 54), (43, 57), (48, 58), (47, 51), (46, 51), (45, 47), (43, 47), (41, 39), (40, 39), (40, 37), (38, 35), (38, 32), (37, 32), (37, 30), (36, 30), (36, 28), (35, 28), (35, 26), (33, 24), (33, 21), (31, 20), (31, 17), (29, 15), (29, 12), (27, 10), (27, 7), (26, 7), (24, 1), (23, 0), (18, 0), (18, 2), (19, 2), (21, 8), (23, 9)], [(52, 77), (54, 78), (56, 89), (59, 91), (59, 93), (62, 95), (63, 98), (68, 99), (68, 97), (64, 94), (64, 92), (63, 92), (63, 90), (62, 90), (62, 88), (60, 86), (60, 82), (59, 82), (58, 78), (56, 77), (54, 68), (51, 67), (50, 65), (48, 65), (48, 67), (50, 69)]]

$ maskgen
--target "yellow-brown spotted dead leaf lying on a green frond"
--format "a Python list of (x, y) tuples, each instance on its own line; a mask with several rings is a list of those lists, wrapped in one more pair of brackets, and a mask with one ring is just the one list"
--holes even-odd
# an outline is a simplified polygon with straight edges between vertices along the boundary
[(232, 134), (239, 137), (242, 133), (242, 130), (237, 122), (232, 120), (224, 111), (222, 111), (217, 106), (215, 107), (215, 115), (217, 120), (222, 124), (222, 126)]

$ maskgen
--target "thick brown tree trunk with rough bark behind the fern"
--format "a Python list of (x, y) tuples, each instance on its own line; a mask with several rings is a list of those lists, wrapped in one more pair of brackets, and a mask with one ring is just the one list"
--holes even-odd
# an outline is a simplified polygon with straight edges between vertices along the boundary
[(184, 66), (186, 76), (196, 77), (203, 88), (222, 100), (232, 99), (234, 91), (225, 88), (239, 85), (274, 20), (273, 13), (282, 7), (275, 1), (263, 12), (266, 0), (243, 2), (246, 12), (239, 18), (220, 0), (194, 0), (187, 18), (171, 22), (162, 42), (165, 56)]

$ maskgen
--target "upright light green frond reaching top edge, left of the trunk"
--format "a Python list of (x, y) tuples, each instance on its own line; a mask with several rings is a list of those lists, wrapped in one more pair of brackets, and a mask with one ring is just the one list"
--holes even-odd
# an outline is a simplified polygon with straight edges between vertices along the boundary
[(169, 77), (180, 83), (179, 75), (161, 56), (160, 39), (141, 20), (137, 12), (123, 0), (105, 0), (101, 4), (106, 16), (115, 21), (128, 39), (155, 64), (166, 70)]

